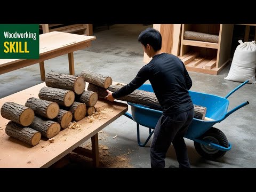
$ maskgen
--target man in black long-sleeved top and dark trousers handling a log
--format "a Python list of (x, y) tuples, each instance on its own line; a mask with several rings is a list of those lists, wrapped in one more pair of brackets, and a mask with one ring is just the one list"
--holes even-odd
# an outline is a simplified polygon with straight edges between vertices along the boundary
[(189, 168), (187, 148), (183, 139), (194, 117), (194, 105), (188, 90), (191, 78), (183, 62), (176, 56), (163, 53), (162, 36), (158, 30), (147, 28), (138, 37), (144, 52), (151, 61), (142, 67), (137, 76), (116, 92), (107, 90), (109, 101), (124, 97), (138, 89), (147, 80), (163, 109), (155, 127), (150, 146), (151, 167), (165, 167), (165, 157), (171, 143), (180, 168)]

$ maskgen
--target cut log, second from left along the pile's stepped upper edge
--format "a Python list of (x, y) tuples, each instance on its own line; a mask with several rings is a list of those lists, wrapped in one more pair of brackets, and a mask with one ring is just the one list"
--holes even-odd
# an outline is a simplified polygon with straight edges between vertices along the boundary
[(27, 100), (25, 106), (33, 109), (37, 116), (42, 116), (49, 119), (57, 117), (60, 109), (58, 103), (33, 97)]

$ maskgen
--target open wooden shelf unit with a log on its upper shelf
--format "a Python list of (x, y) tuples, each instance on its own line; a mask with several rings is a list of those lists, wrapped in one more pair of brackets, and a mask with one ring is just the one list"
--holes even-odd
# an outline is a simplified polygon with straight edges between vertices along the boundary
[[(188, 71), (218, 75), (230, 60), (233, 24), (182, 24), (180, 59)], [(219, 43), (184, 39), (185, 31), (219, 35)]]

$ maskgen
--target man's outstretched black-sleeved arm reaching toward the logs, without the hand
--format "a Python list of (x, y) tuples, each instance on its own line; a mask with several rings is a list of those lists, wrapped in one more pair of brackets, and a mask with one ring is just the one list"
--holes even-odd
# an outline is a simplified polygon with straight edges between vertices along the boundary
[(132, 93), (134, 90), (138, 89), (143, 83), (145, 83), (149, 78), (149, 69), (147, 66), (142, 67), (137, 76), (127, 85), (123, 86), (118, 91), (112, 93), (112, 96), (116, 98), (124, 97)]

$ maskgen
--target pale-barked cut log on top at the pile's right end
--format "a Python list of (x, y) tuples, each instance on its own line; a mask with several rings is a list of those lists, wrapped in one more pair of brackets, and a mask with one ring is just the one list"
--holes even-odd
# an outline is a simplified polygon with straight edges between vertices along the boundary
[(84, 77), (86, 82), (98, 85), (105, 89), (108, 89), (108, 87), (112, 84), (111, 77), (94, 73), (90, 70), (82, 70), (81, 76)]

